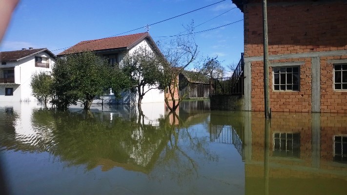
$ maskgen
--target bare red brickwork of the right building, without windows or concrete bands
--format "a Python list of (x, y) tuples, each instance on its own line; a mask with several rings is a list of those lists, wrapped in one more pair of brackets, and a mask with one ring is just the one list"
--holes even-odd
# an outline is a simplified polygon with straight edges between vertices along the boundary
[[(300, 66), (299, 91), (274, 91), (270, 67), (270, 108), (274, 112), (311, 112), (312, 64), (309, 54), (347, 50), (347, 2), (268, 0), (267, 5), (269, 55), (275, 55), (270, 64), (304, 61)], [(244, 18), (245, 60), (261, 57), (264, 53), (262, 1), (249, 0), (244, 5)], [(280, 56), (284, 54), (304, 54), (304, 58), (285, 59)], [(320, 110), (347, 113), (347, 90), (334, 91), (333, 64), (327, 62), (329, 59), (347, 59), (347, 55), (320, 57)], [(252, 111), (264, 111), (265, 107), (263, 66), (263, 61), (251, 61)]]

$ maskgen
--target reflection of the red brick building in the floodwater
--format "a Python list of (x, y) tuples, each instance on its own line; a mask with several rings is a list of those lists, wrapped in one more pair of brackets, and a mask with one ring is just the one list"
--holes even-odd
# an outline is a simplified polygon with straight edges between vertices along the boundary
[[(251, 126), (245, 129), (249, 131), (245, 132), (249, 135), (245, 137), (245, 194), (265, 189), (265, 173), (269, 194), (346, 193), (346, 121), (347, 116), (335, 114), (276, 113), (267, 133), (266, 153), (264, 113), (252, 113), (251, 120), (245, 120)], [(279, 155), (281, 136), (286, 148), (281, 145)]]

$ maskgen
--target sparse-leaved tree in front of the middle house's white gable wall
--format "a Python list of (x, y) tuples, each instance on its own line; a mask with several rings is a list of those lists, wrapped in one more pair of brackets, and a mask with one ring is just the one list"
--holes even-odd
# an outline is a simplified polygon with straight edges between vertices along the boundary
[(162, 66), (157, 60), (157, 54), (146, 47), (140, 47), (124, 57), (122, 71), (130, 78), (131, 88), (137, 91), (138, 107), (141, 109), (143, 96), (159, 87)]

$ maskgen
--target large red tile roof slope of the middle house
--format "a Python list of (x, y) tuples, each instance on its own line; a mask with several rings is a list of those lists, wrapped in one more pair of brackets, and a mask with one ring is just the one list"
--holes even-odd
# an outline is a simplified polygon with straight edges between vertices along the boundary
[(132, 35), (124, 35), (119, 37), (84, 40), (61, 52), (60, 54), (58, 54), (58, 56), (85, 51), (100, 51), (108, 49), (129, 48), (130, 46), (142, 40), (143, 38), (146, 38), (147, 36), (149, 36), (149, 34), (145, 32)]

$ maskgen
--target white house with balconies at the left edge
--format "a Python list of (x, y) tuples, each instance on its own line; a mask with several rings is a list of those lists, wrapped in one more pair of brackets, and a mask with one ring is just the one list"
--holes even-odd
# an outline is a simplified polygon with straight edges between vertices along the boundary
[(56, 56), (47, 48), (0, 52), (0, 101), (36, 101), (31, 76), (52, 72)]

